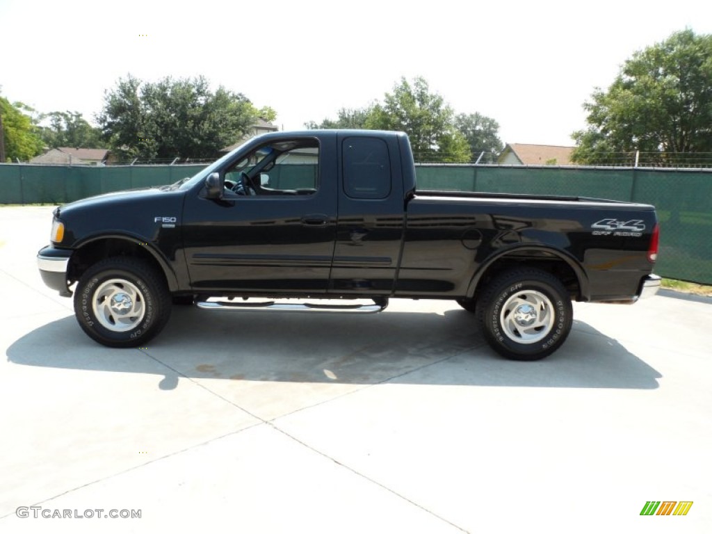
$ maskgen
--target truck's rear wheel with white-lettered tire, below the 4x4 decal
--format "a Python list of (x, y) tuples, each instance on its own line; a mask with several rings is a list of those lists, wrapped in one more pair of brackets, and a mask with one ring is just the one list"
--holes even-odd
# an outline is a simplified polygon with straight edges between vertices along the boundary
[(535, 361), (557, 350), (571, 331), (570, 295), (555, 276), (534, 268), (506, 271), (478, 299), (489, 345), (510, 360)]

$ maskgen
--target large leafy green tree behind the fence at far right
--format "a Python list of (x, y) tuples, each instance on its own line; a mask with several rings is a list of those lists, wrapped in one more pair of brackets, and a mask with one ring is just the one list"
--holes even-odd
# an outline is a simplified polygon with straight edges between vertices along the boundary
[(587, 129), (572, 134), (575, 162), (607, 163), (612, 153), (639, 150), (651, 152), (651, 162), (675, 164), (712, 152), (712, 35), (686, 29), (637, 51), (591, 98)]

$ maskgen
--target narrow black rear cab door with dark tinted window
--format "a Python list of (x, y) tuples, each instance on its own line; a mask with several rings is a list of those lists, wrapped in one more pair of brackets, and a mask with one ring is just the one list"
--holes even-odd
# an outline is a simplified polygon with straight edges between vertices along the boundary
[(397, 137), (343, 132), (338, 145), (338, 221), (330, 291), (389, 295), (405, 224)]

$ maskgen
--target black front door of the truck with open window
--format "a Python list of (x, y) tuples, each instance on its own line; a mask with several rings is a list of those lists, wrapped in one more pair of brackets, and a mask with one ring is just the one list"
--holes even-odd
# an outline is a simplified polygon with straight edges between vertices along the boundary
[(336, 229), (329, 144), (335, 136), (272, 137), (219, 170), (240, 194), (189, 192), (183, 235), (194, 290), (326, 292)]

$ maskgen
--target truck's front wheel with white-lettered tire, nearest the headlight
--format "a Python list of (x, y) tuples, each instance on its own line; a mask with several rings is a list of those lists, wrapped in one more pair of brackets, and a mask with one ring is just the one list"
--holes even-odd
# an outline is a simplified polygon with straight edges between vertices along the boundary
[(141, 347), (171, 314), (162, 276), (137, 258), (107, 258), (88, 268), (74, 293), (74, 313), (84, 332), (107, 347)]

